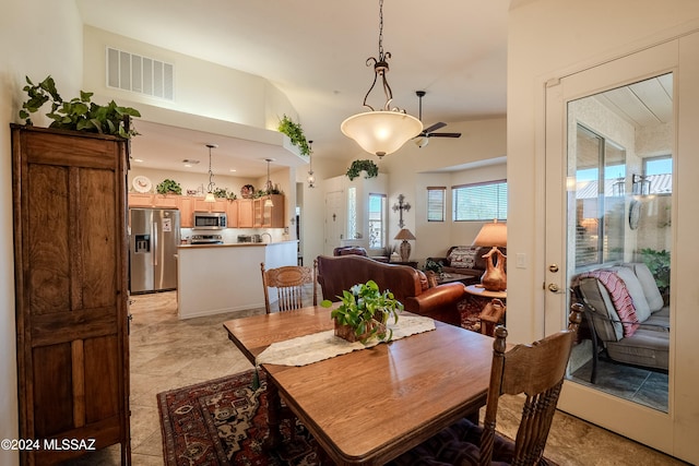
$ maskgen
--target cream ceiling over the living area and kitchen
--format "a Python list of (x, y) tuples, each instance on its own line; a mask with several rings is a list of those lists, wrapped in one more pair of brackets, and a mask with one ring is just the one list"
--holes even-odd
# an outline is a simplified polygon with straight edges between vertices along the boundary
[[(505, 116), (509, 3), (386, 0), (383, 49), (392, 55), (388, 80), (393, 105), (417, 116), (415, 91), (425, 89), (425, 126)], [(298, 111), (307, 139), (313, 141), (313, 158), (344, 160), (359, 152), (341, 133), (340, 123), (363, 111), (374, 79), (365, 62), (378, 55), (378, 0), (76, 0), (76, 4), (85, 24), (265, 77)], [(375, 88), (369, 103), (376, 108), (383, 100)], [(163, 128), (138, 128), (143, 135), (134, 140), (134, 148), (139, 143), (157, 145), (171, 135), (156, 136)], [(177, 143), (167, 148), (165, 164), (171, 163), (171, 169), (181, 170), (181, 159), (191, 158), (198, 147), (203, 156), (194, 170), (205, 171), (206, 142), (221, 144), (220, 153), (225, 151), (225, 141), (209, 141), (202, 134), (180, 133), (171, 141)], [(186, 146), (187, 152), (180, 152)], [(263, 176), (262, 158), (256, 155), (236, 175)]]

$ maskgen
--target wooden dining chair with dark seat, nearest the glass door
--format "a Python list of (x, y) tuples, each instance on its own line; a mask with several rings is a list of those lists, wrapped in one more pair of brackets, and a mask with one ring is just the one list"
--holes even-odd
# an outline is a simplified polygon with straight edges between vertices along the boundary
[[(582, 319), (571, 306), (568, 330), (506, 351), (507, 330), (495, 330), (490, 384), (483, 426), (467, 419), (442, 430), (392, 465), (543, 465), (544, 446), (558, 404), (566, 367)], [(514, 441), (498, 434), (496, 415), (501, 395), (526, 395)]]

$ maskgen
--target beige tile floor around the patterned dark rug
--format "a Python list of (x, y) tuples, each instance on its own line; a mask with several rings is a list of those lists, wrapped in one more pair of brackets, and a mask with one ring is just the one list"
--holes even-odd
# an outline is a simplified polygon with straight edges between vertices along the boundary
[[(222, 322), (263, 309), (180, 321), (175, 291), (132, 297), (131, 313), (131, 447), (135, 466), (163, 464), (156, 394), (166, 390), (224, 377), (251, 368), (228, 340)], [(512, 421), (519, 398), (501, 404), (498, 430), (514, 437)], [(546, 455), (561, 466), (683, 465), (644, 445), (558, 413), (546, 445)], [(119, 464), (117, 447), (69, 463)]]

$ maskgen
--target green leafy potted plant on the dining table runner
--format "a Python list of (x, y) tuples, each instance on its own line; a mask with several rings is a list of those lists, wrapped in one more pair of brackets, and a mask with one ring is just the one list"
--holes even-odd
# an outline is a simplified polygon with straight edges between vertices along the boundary
[[(376, 282), (369, 280), (344, 290), (342, 295), (339, 297), (341, 304), (330, 313), (335, 321), (335, 335), (365, 345), (374, 336), (381, 342), (391, 340), (393, 331), (387, 327), (387, 323), (390, 318), (398, 322), (403, 304), (390, 290), (380, 291)], [(325, 299), (321, 306), (330, 308), (332, 302)]]

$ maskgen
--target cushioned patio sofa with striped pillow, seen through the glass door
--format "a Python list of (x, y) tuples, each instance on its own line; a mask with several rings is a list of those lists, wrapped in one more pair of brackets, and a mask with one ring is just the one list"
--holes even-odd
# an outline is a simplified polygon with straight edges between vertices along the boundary
[(625, 263), (581, 273), (573, 279), (573, 290), (592, 333), (592, 383), (601, 349), (618, 362), (667, 370), (670, 308), (645, 264)]

